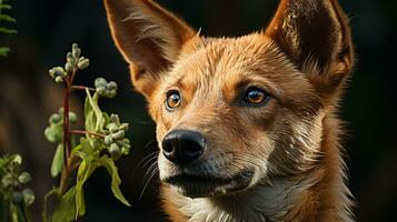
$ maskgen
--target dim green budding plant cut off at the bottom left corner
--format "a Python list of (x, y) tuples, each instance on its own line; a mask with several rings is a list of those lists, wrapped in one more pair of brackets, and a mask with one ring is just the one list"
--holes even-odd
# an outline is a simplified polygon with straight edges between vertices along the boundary
[(31, 180), (28, 172), (20, 172), (22, 158), (0, 158), (0, 221), (22, 222), (29, 220), (29, 209), (34, 193), (24, 185)]

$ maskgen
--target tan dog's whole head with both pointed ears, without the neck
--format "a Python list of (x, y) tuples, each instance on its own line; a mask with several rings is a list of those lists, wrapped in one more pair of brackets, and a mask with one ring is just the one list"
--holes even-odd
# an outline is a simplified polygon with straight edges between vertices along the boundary
[(281, 0), (265, 31), (206, 38), (149, 0), (105, 0), (157, 123), (160, 179), (188, 196), (247, 190), (321, 158), (322, 120), (353, 67), (336, 0)]

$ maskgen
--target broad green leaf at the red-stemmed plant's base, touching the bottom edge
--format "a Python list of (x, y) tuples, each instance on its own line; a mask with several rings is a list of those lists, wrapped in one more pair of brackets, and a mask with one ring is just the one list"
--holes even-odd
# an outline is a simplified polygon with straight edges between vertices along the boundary
[(56, 208), (51, 222), (69, 222), (76, 219), (76, 188), (72, 186), (66, 192)]

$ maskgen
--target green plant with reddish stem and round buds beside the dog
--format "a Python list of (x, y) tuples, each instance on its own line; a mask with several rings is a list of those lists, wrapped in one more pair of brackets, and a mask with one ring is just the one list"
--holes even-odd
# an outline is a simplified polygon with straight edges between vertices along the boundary
[[(52, 216), (46, 208), (44, 221), (75, 221), (85, 215), (83, 185), (90, 175), (100, 167), (106, 168), (111, 176), (111, 191), (123, 204), (130, 205), (122, 195), (119, 185), (121, 180), (115, 161), (127, 155), (130, 142), (126, 138), (128, 124), (122, 123), (117, 114), (107, 114), (99, 107), (100, 98), (112, 98), (117, 93), (116, 82), (103, 78), (95, 81), (95, 88), (75, 85), (78, 71), (86, 69), (89, 60), (81, 57), (81, 49), (75, 43), (67, 54), (63, 67), (54, 67), (49, 71), (50, 77), (64, 85), (63, 107), (49, 118), (49, 127), (44, 131), (47, 140), (54, 143), (57, 149), (51, 164), (51, 175), (59, 176), (59, 185), (47, 195), (56, 194), (58, 205)], [(69, 109), (70, 93), (82, 90), (86, 92), (85, 129), (72, 129), (77, 114)], [(76, 143), (76, 144), (75, 144)], [(46, 203), (47, 205), (47, 203)]]

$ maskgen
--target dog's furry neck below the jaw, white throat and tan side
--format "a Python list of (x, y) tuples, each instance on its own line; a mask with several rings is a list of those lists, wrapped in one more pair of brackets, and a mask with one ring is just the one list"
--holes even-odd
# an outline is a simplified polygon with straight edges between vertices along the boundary
[(337, 143), (338, 122), (326, 118), (321, 142), (324, 159), (310, 172), (271, 178), (237, 194), (190, 199), (171, 189), (165, 198), (189, 222), (217, 221), (353, 221), (351, 201), (344, 181), (344, 162)]

